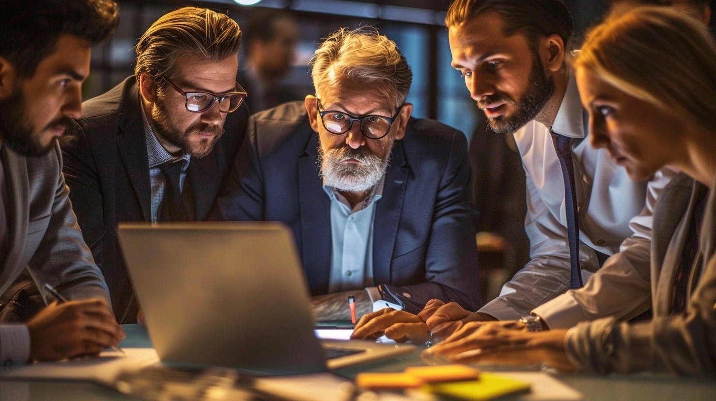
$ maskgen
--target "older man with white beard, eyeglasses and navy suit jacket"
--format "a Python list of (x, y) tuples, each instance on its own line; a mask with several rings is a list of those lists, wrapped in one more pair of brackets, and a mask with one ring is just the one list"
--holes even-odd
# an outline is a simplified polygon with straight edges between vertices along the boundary
[(374, 29), (339, 30), (311, 64), (316, 96), (251, 117), (212, 217), (290, 226), (319, 320), (349, 319), (348, 296), (359, 317), (478, 305), (465, 135), (410, 117), (410, 67)]

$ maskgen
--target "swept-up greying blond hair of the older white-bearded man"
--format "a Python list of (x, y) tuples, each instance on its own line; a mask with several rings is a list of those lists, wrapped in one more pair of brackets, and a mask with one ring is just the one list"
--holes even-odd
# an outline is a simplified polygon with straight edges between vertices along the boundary
[(311, 78), (316, 94), (321, 87), (347, 77), (358, 84), (377, 83), (384, 95), (405, 102), (412, 72), (395, 42), (364, 27), (339, 29), (321, 44), (311, 59)]

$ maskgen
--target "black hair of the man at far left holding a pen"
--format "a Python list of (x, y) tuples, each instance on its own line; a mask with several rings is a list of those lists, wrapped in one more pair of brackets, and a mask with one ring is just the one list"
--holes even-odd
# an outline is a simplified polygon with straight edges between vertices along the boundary
[(108, 39), (118, 23), (113, 0), (1, 0), (0, 56), (19, 78), (32, 77), (62, 35), (93, 46)]

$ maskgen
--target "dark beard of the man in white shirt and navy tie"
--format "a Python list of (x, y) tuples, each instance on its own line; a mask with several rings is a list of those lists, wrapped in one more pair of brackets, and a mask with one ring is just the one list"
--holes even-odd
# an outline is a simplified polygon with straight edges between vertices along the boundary
[[(513, 133), (521, 127), (524, 127), (528, 122), (537, 117), (539, 112), (544, 108), (544, 105), (547, 104), (549, 98), (554, 94), (554, 79), (547, 77), (539, 57), (533, 58), (529, 82), (530, 85), (527, 92), (523, 95), (519, 103), (508, 97), (508, 95), (501, 93), (480, 100), (480, 102), (487, 104), (503, 101), (518, 106), (515, 114), (510, 117), (505, 115), (500, 115), (495, 118), (488, 117), (490, 127), (492, 127), (495, 132), (500, 134)], [(480, 102), (478, 102), (478, 106)]]

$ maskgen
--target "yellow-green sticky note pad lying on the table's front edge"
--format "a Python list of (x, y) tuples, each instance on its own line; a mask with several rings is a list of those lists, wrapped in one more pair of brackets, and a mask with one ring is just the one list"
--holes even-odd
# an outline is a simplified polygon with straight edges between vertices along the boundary
[(528, 391), (530, 384), (483, 372), (480, 374), (480, 380), (437, 383), (427, 385), (425, 389), (436, 394), (458, 397), (461, 400), (483, 401), (492, 400), (513, 392)]

